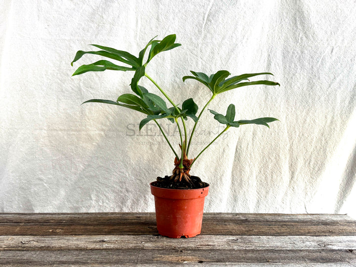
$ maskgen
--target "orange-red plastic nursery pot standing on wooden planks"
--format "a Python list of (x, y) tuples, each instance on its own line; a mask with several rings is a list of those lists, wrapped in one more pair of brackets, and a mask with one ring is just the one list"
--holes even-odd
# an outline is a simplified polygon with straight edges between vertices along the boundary
[(150, 186), (160, 235), (180, 238), (200, 234), (209, 185), (201, 189), (167, 189), (153, 186), (151, 182)]

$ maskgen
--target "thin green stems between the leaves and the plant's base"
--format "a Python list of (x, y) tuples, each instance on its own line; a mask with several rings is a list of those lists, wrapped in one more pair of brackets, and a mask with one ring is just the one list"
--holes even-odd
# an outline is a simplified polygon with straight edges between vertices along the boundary
[[(167, 95), (167, 93), (147, 74), (145, 73), (145, 76), (162, 92), (162, 94), (167, 98), (167, 100), (174, 106), (176, 107), (176, 109), (178, 110), (177, 105), (172, 101), (172, 99)], [(182, 117), (180, 117), (181, 119), (181, 123), (183, 125), (183, 133), (181, 131), (181, 128), (179, 126), (179, 122), (177, 120), (177, 118), (175, 119), (175, 122), (177, 124), (178, 127), (178, 132), (179, 132), (179, 136), (180, 136), (180, 143), (181, 143), (181, 156), (180, 156), (180, 164), (179, 164), (179, 168), (183, 169), (183, 155), (185, 154), (186, 156), (188, 156), (189, 153), (189, 148), (190, 148), (190, 144), (193, 138), (193, 134), (195, 132), (195, 128), (199, 122), (199, 119), (201, 117), (201, 115), (203, 114), (204, 110), (206, 109), (206, 107), (210, 104), (210, 102), (215, 98), (216, 94), (213, 94), (212, 97), (209, 99), (209, 101), (205, 104), (205, 106), (203, 107), (203, 109), (200, 111), (199, 115), (198, 115), (198, 119), (194, 124), (193, 130), (190, 134), (189, 137), (189, 142), (188, 144), (186, 144), (186, 140), (187, 140), (187, 130), (185, 127), (185, 122), (184, 119)], [(164, 133), (162, 127), (160, 126), (160, 124), (157, 122), (157, 120), (154, 120), (154, 122), (157, 124), (158, 128), (160, 129), (161, 133), (163, 134), (163, 136), (165, 137), (167, 143), (169, 144), (169, 146), (171, 147), (173, 153), (176, 155), (177, 160), (179, 160), (179, 156), (177, 154), (177, 152), (175, 151), (175, 149), (173, 148), (171, 142), (168, 140), (167, 135)], [(192, 163), (190, 164), (190, 166), (192, 166), (194, 164), (194, 162), (197, 160), (197, 158), (216, 140), (218, 139), (224, 132), (226, 132), (229, 129), (230, 126), (226, 126), (226, 128), (220, 133), (218, 134), (218, 136), (216, 136), (196, 157), (195, 159), (192, 161)], [(183, 134), (184, 134), (184, 140), (183, 140)]]

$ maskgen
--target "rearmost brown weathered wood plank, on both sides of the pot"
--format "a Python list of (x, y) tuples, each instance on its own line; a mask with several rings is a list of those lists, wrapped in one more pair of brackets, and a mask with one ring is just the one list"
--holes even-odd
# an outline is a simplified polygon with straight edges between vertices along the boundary
[[(157, 234), (154, 213), (0, 214), (0, 235)], [(204, 214), (203, 235), (356, 235), (347, 215)]]

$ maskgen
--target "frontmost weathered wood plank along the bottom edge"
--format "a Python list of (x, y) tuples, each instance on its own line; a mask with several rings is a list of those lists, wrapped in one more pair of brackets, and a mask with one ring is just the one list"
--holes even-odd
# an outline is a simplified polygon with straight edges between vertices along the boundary
[(356, 264), (345, 250), (13, 250), (0, 251), (0, 266)]

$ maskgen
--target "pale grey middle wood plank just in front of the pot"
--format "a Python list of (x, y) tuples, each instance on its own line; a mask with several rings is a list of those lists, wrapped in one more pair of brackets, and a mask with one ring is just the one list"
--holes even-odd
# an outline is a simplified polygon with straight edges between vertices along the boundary
[(0, 236), (0, 250), (353, 250), (356, 236), (199, 235), (171, 239), (152, 235)]

